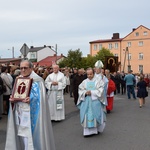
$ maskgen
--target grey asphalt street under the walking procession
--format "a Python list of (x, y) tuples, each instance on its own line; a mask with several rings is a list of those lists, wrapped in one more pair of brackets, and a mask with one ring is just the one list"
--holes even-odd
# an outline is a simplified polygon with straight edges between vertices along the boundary
[[(138, 100), (116, 95), (102, 134), (84, 138), (79, 110), (65, 95), (66, 119), (53, 122), (57, 150), (150, 150), (150, 98), (139, 108)], [(7, 117), (0, 121), (0, 150), (4, 150)]]

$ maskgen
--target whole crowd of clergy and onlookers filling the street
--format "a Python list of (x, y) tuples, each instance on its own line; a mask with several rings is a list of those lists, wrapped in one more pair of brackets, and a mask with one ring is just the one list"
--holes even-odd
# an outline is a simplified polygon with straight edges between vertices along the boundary
[[(142, 108), (150, 77), (133, 74), (132, 70), (111, 73), (103, 67), (100, 60), (86, 71), (62, 69), (56, 64), (33, 66), (28, 60), (21, 61), (19, 66), (1, 65), (0, 120), (9, 113), (6, 150), (55, 150), (51, 121), (65, 119), (64, 94), (74, 98), (75, 106), (80, 109), (84, 137), (103, 132), (116, 94), (127, 93), (128, 99), (131, 94), (133, 99), (138, 97)], [(11, 94), (17, 77), (32, 78), (33, 83), (29, 97), (16, 102)]]

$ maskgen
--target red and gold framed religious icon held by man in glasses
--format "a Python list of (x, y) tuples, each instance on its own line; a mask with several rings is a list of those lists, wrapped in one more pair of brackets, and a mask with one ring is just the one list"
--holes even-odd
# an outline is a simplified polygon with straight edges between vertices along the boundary
[(12, 91), (12, 98), (15, 101), (22, 101), (26, 97), (29, 97), (32, 81), (32, 78), (17, 77)]

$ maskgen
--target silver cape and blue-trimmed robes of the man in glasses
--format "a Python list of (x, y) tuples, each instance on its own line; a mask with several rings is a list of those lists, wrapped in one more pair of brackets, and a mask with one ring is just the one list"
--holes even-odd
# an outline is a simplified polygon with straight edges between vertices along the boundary
[(44, 81), (34, 71), (30, 104), (10, 104), (5, 150), (55, 150)]

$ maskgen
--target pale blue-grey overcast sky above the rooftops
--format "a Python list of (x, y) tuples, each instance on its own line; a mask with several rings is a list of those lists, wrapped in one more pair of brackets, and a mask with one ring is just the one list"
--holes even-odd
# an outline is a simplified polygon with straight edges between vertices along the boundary
[(18, 57), (24, 43), (86, 56), (90, 41), (122, 38), (140, 25), (150, 28), (150, 0), (1, 0), (0, 57), (12, 57), (12, 47)]

